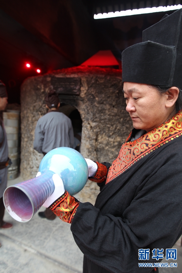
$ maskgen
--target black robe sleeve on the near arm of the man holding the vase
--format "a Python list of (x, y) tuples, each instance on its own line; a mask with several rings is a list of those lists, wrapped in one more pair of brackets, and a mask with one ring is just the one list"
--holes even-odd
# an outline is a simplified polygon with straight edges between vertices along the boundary
[[(80, 203), (71, 231), (86, 257), (110, 272), (151, 272), (153, 268), (138, 267), (138, 249), (150, 248), (146, 262), (160, 262), (151, 258), (153, 248), (163, 248), (165, 256), (165, 249), (171, 248), (182, 233), (181, 166), (180, 159), (174, 157), (166, 158), (165, 164), (153, 168), (152, 173), (144, 168), (142, 173), (141, 169), (143, 183), (122, 213), (118, 203), (120, 198), (129, 198), (133, 192), (130, 185), (128, 196), (122, 196), (120, 190), (110, 207), (107, 202), (108, 213), (90, 203)], [(132, 179), (140, 176), (133, 175)]]

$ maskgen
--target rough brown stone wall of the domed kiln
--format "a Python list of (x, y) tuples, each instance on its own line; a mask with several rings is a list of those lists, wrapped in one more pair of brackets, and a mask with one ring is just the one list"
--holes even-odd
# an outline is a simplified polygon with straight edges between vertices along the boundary
[[(121, 71), (110, 68), (73, 67), (28, 78), (21, 88), (21, 176), (35, 177), (42, 154), (33, 149), (34, 130), (46, 113), (44, 97), (54, 78), (80, 78), (79, 95), (59, 95), (62, 103), (77, 109), (82, 118), (81, 153), (99, 162), (112, 163), (126, 140), (132, 122), (126, 112)], [(54, 88), (54, 86), (53, 86)], [(94, 202), (97, 185), (88, 181), (79, 193), (82, 201)]]

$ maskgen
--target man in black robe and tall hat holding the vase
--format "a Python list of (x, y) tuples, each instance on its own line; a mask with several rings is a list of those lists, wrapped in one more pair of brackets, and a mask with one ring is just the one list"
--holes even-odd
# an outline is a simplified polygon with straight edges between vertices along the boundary
[(182, 234), (182, 9), (122, 56), (134, 129), (111, 166), (86, 159), (101, 190), (95, 205), (70, 196), (59, 176), (44, 204), (71, 224), (83, 273), (159, 272), (165, 255), (175, 263)]

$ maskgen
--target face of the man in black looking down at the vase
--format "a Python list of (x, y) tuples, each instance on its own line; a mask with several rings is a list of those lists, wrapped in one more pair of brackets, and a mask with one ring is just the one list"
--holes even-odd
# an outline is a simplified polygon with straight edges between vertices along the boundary
[(166, 107), (166, 95), (160, 95), (157, 89), (125, 82), (123, 92), (134, 128), (149, 132), (168, 120), (171, 109)]

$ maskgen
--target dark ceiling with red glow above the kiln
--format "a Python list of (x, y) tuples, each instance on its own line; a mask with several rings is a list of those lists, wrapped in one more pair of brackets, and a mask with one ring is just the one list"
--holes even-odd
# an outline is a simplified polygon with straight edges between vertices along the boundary
[[(165, 14), (94, 20), (94, 13), (158, 6), (161, 1), (181, 2), (0, 0), (0, 79), (7, 86), (9, 102), (19, 103), (22, 81), (37, 75), (37, 68), (46, 73), (77, 66), (98, 50), (112, 50), (121, 59), (126, 47), (141, 42), (143, 29)], [(26, 62), (31, 63), (30, 69)]]

